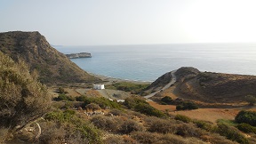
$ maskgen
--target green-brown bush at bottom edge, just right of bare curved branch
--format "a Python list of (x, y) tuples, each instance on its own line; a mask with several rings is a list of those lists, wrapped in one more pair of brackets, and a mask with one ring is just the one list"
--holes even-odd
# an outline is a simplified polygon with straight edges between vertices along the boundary
[(44, 116), (40, 143), (102, 143), (101, 132), (76, 116), (75, 111), (54, 111)]

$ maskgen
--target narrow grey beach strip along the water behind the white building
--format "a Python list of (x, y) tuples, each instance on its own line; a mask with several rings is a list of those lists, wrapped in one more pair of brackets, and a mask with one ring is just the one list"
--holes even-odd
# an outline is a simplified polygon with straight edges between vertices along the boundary
[(134, 83), (134, 84), (151, 84), (153, 82), (147, 82), (147, 81), (136, 81), (136, 80), (129, 80), (129, 79), (122, 79), (122, 78), (115, 78), (110, 76), (102, 76), (98, 74), (93, 74), (87, 72), (89, 75), (96, 76), (100, 78), (103, 82), (103, 84), (113, 84), (113, 83), (120, 83), (120, 82), (128, 82), (128, 83)]

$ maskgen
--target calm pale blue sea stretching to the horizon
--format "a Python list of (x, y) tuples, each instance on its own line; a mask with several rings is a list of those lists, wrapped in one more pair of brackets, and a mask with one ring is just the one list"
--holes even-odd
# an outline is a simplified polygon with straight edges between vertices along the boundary
[(256, 44), (138, 44), (53, 46), (64, 54), (90, 52), (71, 59), (89, 73), (153, 82), (167, 72), (194, 67), (200, 71), (256, 75)]

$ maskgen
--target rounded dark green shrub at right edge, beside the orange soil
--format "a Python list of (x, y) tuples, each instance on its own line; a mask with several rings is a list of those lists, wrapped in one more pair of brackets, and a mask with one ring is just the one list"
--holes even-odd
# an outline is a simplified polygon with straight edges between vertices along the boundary
[(256, 126), (256, 112), (254, 111), (240, 111), (235, 117), (236, 123), (250, 124)]

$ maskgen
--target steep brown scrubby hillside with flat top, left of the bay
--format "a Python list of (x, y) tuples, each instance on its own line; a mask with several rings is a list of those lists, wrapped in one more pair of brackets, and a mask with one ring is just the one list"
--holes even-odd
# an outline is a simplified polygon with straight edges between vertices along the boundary
[(39, 72), (44, 84), (91, 83), (100, 81), (76, 66), (54, 48), (39, 32), (13, 31), (0, 33), (0, 51), (13, 60), (24, 60), (30, 71)]

